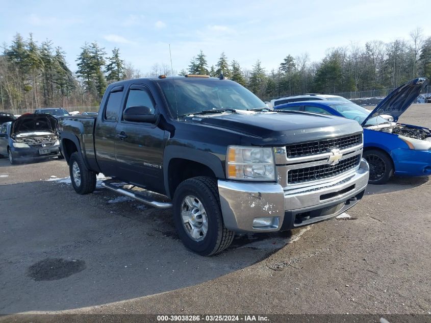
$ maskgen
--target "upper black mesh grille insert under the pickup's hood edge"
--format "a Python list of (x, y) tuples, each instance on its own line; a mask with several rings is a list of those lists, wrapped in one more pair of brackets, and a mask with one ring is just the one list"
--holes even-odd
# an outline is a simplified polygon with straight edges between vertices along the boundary
[(356, 146), (362, 143), (362, 134), (341, 137), (336, 139), (327, 139), (312, 141), (306, 143), (299, 143), (286, 146), (287, 158), (295, 158), (301, 156), (317, 155), (326, 153), (332, 148), (339, 148), (340, 150)]

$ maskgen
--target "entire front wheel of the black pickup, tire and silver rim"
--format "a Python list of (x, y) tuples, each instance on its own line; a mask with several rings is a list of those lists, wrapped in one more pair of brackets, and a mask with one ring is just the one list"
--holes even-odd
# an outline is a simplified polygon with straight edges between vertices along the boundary
[(211, 256), (232, 243), (235, 234), (224, 226), (215, 179), (185, 180), (176, 188), (172, 202), (176, 231), (188, 249)]

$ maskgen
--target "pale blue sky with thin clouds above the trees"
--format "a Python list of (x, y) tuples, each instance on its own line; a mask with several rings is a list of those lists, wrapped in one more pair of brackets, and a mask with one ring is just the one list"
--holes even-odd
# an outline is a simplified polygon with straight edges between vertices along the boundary
[(66, 52), (72, 71), (85, 42), (97, 41), (109, 56), (142, 73), (155, 64), (187, 69), (200, 50), (215, 65), (221, 52), (251, 69), (270, 71), (288, 54), (318, 61), (326, 49), (371, 40), (409, 39), (420, 27), (431, 36), (429, 0), (398, 1), (10, 1), (0, 0), (0, 44), (29, 33)]

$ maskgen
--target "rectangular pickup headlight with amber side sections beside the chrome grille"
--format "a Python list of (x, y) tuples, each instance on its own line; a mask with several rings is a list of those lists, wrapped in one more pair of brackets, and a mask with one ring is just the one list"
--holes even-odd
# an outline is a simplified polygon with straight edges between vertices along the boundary
[(272, 148), (227, 147), (226, 172), (232, 180), (275, 181)]

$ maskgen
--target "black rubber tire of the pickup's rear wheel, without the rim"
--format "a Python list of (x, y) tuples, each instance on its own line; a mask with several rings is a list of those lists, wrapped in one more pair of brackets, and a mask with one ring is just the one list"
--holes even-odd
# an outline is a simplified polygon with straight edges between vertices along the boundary
[[(74, 165), (77, 165), (79, 169), (79, 183), (77, 180), (75, 180), (75, 172), (73, 171)], [(70, 156), (69, 173), (72, 186), (75, 192), (77, 192), (78, 194), (92, 193), (96, 188), (96, 173), (87, 168), (84, 163), (84, 160), (78, 152), (75, 152)]]

